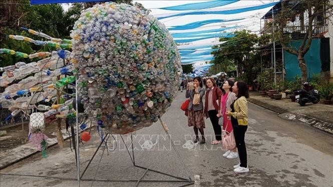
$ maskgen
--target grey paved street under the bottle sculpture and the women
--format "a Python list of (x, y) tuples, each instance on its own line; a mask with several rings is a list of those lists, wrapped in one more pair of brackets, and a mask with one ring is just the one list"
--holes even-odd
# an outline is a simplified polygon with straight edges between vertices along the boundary
[[(239, 159), (222, 157), (220, 145), (211, 145), (213, 128), (206, 120), (206, 144), (193, 145), (189, 141), (193, 128), (179, 109), (185, 99), (179, 92), (168, 112), (162, 117), (195, 184), (192, 186), (332, 186), (333, 137), (297, 121), (281, 119), (276, 113), (249, 104), (249, 128), (246, 132), (250, 172), (234, 173), (232, 165)], [(80, 147), (81, 172), (100, 142), (94, 130), (93, 138)], [(139, 130), (134, 135), (135, 162), (172, 175), (188, 177), (175, 151), (164, 136), (159, 122)], [(128, 135), (123, 138), (128, 146)], [(109, 138), (109, 149), (101, 148), (84, 178), (140, 178), (144, 169), (134, 167), (120, 136)], [(117, 143), (114, 143), (117, 142)], [(114, 145), (114, 146), (113, 146)], [(115, 146), (117, 145), (117, 146)], [(144, 150), (142, 149), (144, 148)], [(101, 159), (101, 161), (100, 161)], [(100, 164), (99, 164), (100, 162)], [(98, 170), (97, 170), (98, 169)], [(1, 170), (1, 173), (47, 175), (76, 178), (74, 153), (67, 141), (63, 149), (49, 148), (48, 158), (37, 153)], [(75, 180), (18, 175), (1, 175), (1, 186), (77, 186)], [(151, 171), (144, 179), (175, 179)], [(135, 186), (136, 182), (81, 181), (81, 186)], [(140, 182), (139, 186), (179, 186), (184, 182)]]

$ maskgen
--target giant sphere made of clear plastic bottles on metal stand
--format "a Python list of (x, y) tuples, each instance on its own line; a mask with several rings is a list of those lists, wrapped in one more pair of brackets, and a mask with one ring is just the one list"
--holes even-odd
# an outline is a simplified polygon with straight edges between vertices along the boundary
[(72, 63), (85, 112), (111, 133), (150, 126), (180, 83), (180, 55), (168, 29), (128, 4), (83, 10), (71, 32)]

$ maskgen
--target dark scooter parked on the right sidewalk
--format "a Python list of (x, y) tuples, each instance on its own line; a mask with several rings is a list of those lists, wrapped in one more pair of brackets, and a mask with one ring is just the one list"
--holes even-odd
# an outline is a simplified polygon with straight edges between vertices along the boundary
[(320, 95), (318, 90), (314, 89), (308, 82), (303, 83), (303, 89), (294, 90), (295, 98), (301, 106), (305, 106), (305, 103), (312, 102), (313, 104), (318, 103)]

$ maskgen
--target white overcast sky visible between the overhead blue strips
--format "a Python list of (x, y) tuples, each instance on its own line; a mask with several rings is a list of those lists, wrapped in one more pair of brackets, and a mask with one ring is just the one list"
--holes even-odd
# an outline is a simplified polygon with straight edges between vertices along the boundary
[[(175, 5), (182, 5), (187, 3), (195, 3), (195, 2), (206, 2), (210, 0), (133, 0), (134, 2), (140, 2), (145, 8), (151, 10), (151, 14), (158, 15), (158, 14), (164, 14), (164, 13), (174, 13), (174, 12), (184, 12), (177, 11), (177, 10), (164, 10), (159, 9), (161, 7), (167, 7), (167, 6), (175, 6)], [(263, 3), (270, 3), (270, 2), (276, 2), (279, 0), (239, 0), (234, 3), (230, 3), (223, 6), (218, 6), (214, 8), (209, 9), (215, 9), (215, 8), (225, 8), (225, 9), (237, 9), (237, 8), (244, 8), (247, 6), (253, 6), (253, 5), (261, 5)], [(64, 9), (68, 9), (68, 4), (63, 4)], [(268, 10), (271, 9), (270, 7), (262, 8), (258, 10), (252, 10), (252, 11), (246, 11), (242, 13), (234, 13), (234, 14), (204, 14), (204, 15), (183, 15), (183, 16), (174, 16), (169, 18), (160, 19), (159, 21), (164, 23), (166, 27), (170, 26), (177, 26), (177, 25), (183, 25), (195, 21), (203, 21), (203, 20), (209, 20), (209, 19), (236, 19), (236, 18), (244, 18), (242, 20), (238, 21), (228, 21), (228, 22), (221, 22), (221, 23), (211, 23), (206, 24), (202, 27), (195, 28), (195, 29), (187, 29), (187, 30), (171, 30), (171, 33), (176, 32), (190, 32), (190, 31), (198, 31), (198, 30), (208, 30), (208, 29), (215, 29), (220, 28), (221, 26), (231, 27), (231, 26), (239, 26), (237, 28), (228, 29), (225, 30), (226, 32), (232, 32), (234, 30), (239, 29), (249, 29), (252, 30), (254, 33), (258, 34), (260, 30), (260, 17), (262, 17)], [(190, 10), (190, 11), (199, 11), (199, 10)], [(262, 21), (263, 24), (263, 21)], [(176, 38), (176, 39), (186, 39), (186, 38)], [(216, 42), (218, 41), (218, 38), (208, 38), (208, 39), (202, 39), (193, 41), (193, 44), (200, 45), (201, 43), (207, 43), (207, 42)]]

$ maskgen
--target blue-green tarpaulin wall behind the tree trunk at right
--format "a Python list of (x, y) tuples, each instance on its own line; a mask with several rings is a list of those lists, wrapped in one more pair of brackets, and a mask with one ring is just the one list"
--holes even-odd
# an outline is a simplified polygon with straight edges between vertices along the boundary
[[(298, 49), (302, 40), (291, 40), (290, 46), (296, 47)], [(284, 54), (284, 66), (287, 80), (291, 81), (298, 74), (301, 76), (301, 70), (298, 65), (297, 56), (283, 50)], [(312, 39), (311, 46), (304, 56), (306, 67), (307, 67), (307, 77), (312, 77), (313, 74), (320, 73), (321, 71), (321, 61), (320, 61), (320, 39)]]

